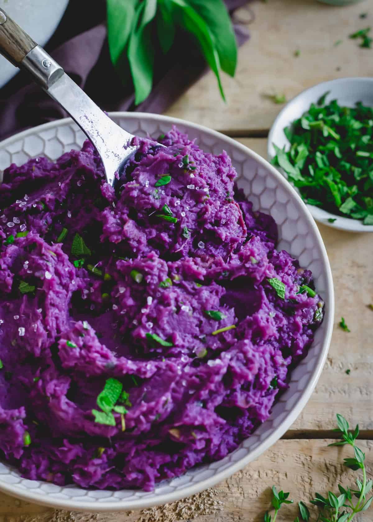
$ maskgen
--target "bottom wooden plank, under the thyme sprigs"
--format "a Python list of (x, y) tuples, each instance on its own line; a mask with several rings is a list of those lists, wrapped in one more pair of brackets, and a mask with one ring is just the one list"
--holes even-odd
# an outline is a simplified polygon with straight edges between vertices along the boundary
[[(17, 505), (16, 500), (0, 494), (2, 522), (262, 522), (270, 508), (271, 487), (290, 492), (295, 505), (284, 506), (277, 522), (289, 522), (297, 516), (297, 502), (308, 502), (315, 492), (337, 491), (337, 483), (353, 487), (358, 476), (342, 465), (344, 457), (352, 456), (352, 448), (327, 447), (330, 440), (278, 441), (258, 460), (235, 473), (207, 493), (147, 513), (79, 514), (52, 512), (40, 507), (40, 515), (31, 514), (30, 506)], [(366, 453), (368, 477), (373, 471), (373, 443), (359, 441)], [(35, 511), (34, 511), (35, 513)], [(370, 508), (362, 520), (370, 520)], [(312, 518), (316, 520), (316, 518)]]

